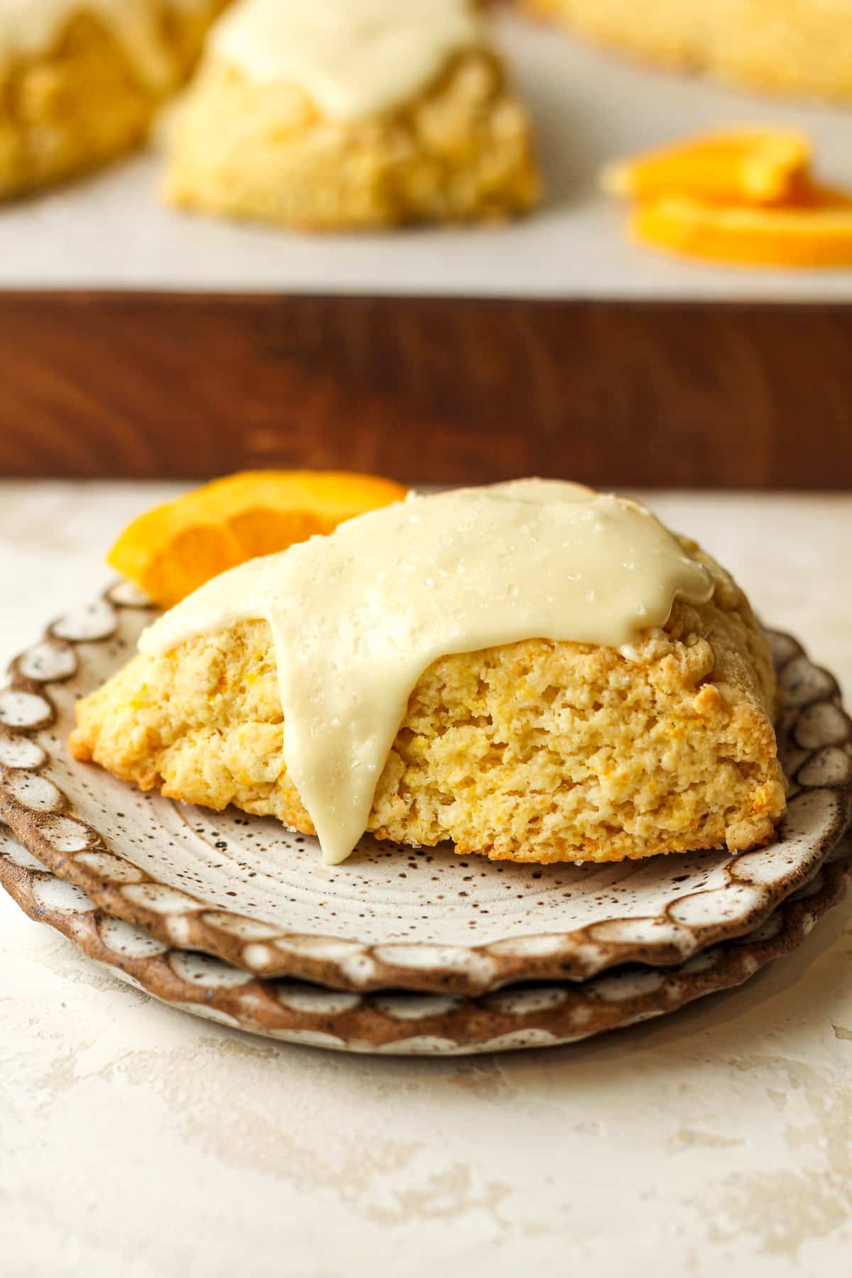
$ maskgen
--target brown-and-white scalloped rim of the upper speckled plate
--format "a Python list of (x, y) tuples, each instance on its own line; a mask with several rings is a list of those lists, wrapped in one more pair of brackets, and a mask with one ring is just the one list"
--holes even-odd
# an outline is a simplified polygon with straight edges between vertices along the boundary
[[(339, 960), (317, 953), (317, 934), (298, 937), (286, 933), (286, 939), (307, 941), (314, 952), (298, 947), (278, 950), (272, 944), (254, 944), (240, 937), (232, 927), (220, 927), (208, 911), (189, 893), (174, 896), (183, 900), (164, 915), (148, 909), (139, 900), (130, 901), (123, 889), (120, 875), (110, 882), (100, 870), (77, 860), (80, 852), (105, 850), (109, 845), (97, 829), (72, 817), (79, 829), (78, 843), (51, 836), (51, 822), (70, 815), (69, 801), (60, 787), (43, 773), (49, 772), (50, 754), (36, 737), (55, 718), (50, 697), (51, 684), (65, 682), (78, 672), (79, 649), (91, 644), (105, 644), (115, 639), (125, 610), (149, 608), (148, 602), (126, 583), (112, 587), (103, 597), (78, 612), (54, 622), (45, 636), (11, 662), (10, 682), (0, 693), (0, 817), (6, 820), (15, 837), (47, 865), (57, 877), (80, 887), (98, 906), (128, 923), (146, 928), (153, 937), (172, 944), (180, 935), (180, 944), (215, 955), (226, 962), (243, 967), (258, 976), (295, 976), (332, 988), (416, 989), (432, 993), (476, 996), (519, 980), (585, 980), (608, 967), (626, 962), (666, 966), (682, 962), (719, 941), (742, 935), (759, 927), (778, 904), (811, 878), (824, 858), (838, 843), (849, 815), (852, 796), (852, 725), (841, 705), (837, 681), (828, 672), (814, 666), (801, 645), (788, 635), (768, 631), (775, 656), (779, 679), (786, 685), (788, 700), (787, 731), (800, 746), (800, 755), (791, 778), (791, 810), (795, 804), (807, 803), (809, 796), (829, 796), (830, 818), (820, 837), (815, 840), (811, 855), (805, 863), (775, 878), (770, 883), (755, 881), (749, 874), (749, 863), (734, 858), (726, 873), (731, 887), (752, 889), (754, 905), (741, 910), (736, 918), (723, 912), (714, 921), (688, 923), (672, 916), (674, 906), (682, 906), (690, 895), (671, 902), (655, 919), (643, 921), (659, 924), (664, 935), (654, 942), (616, 939), (613, 923), (628, 930), (636, 919), (607, 920), (603, 937), (597, 924), (575, 928), (566, 933), (548, 933), (545, 937), (526, 937), (524, 943), (507, 946), (502, 941), (480, 946), (443, 946), (445, 961), (434, 964), (406, 964), (406, 948), (416, 950), (418, 942), (399, 942), (393, 946), (399, 961), (388, 961), (379, 951), (382, 946), (354, 946), (359, 951), (353, 962), (353, 946), (346, 958)], [(84, 659), (84, 658), (83, 658)], [(22, 797), (22, 778), (33, 778), (29, 789), (41, 787), (50, 792), (50, 801), (42, 796), (38, 803)], [(40, 781), (36, 778), (41, 778)], [(23, 787), (26, 789), (26, 786)], [(14, 791), (14, 792), (13, 792)], [(110, 852), (120, 860), (120, 849)], [(754, 854), (743, 854), (747, 859)], [(141, 882), (156, 883), (144, 872), (135, 872), (134, 886)], [(697, 896), (699, 893), (694, 893)], [(138, 896), (138, 893), (137, 893)], [(218, 911), (220, 916), (222, 911)], [(230, 921), (239, 921), (234, 915)], [(250, 920), (249, 920), (250, 921)], [(672, 934), (677, 939), (672, 941)], [(284, 933), (281, 937), (284, 938)], [(535, 952), (544, 942), (544, 952)], [(528, 944), (525, 944), (528, 943)], [(333, 951), (333, 941), (330, 944)], [(525, 952), (526, 951), (526, 952)], [(452, 953), (450, 953), (452, 952)]]

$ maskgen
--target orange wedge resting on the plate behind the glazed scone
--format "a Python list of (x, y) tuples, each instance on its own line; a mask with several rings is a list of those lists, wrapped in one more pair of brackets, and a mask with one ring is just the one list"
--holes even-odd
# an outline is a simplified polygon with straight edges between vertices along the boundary
[(107, 562), (170, 608), (211, 576), (388, 506), (392, 479), (336, 470), (245, 470), (139, 515)]

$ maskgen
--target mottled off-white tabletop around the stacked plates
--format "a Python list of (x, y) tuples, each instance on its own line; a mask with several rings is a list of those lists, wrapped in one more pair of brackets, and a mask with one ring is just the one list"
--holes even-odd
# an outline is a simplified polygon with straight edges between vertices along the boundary
[[(169, 491), (0, 483), (0, 654)], [(650, 501), (852, 694), (852, 497)], [(4, 1278), (844, 1278), (852, 912), (669, 1020), (441, 1062), (181, 1016), (0, 893), (0, 1086)]]

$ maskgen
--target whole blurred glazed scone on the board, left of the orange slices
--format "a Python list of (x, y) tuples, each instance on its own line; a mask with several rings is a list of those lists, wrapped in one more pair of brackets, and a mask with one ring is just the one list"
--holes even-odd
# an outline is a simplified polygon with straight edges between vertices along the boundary
[(535, 203), (526, 114), (473, 0), (240, 0), (175, 121), (178, 206), (316, 230)]

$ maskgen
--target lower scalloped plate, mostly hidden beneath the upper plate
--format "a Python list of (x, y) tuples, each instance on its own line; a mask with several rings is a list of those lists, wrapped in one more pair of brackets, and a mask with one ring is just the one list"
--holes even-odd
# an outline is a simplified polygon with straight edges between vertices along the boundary
[(805, 887), (740, 938), (673, 967), (628, 967), (588, 982), (503, 989), (480, 998), (356, 994), (267, 980), (208, 955), (171, 950), (114, 919), (0, 829), (0, 883), (32, 918), (69, 937), (121, 980), (195, 1016), (267, 1038), (346, 1052), (464, 1056), (575, 1043), (741, 985), (793, 950), (843, 896), (852, 849), (841, 845)]

